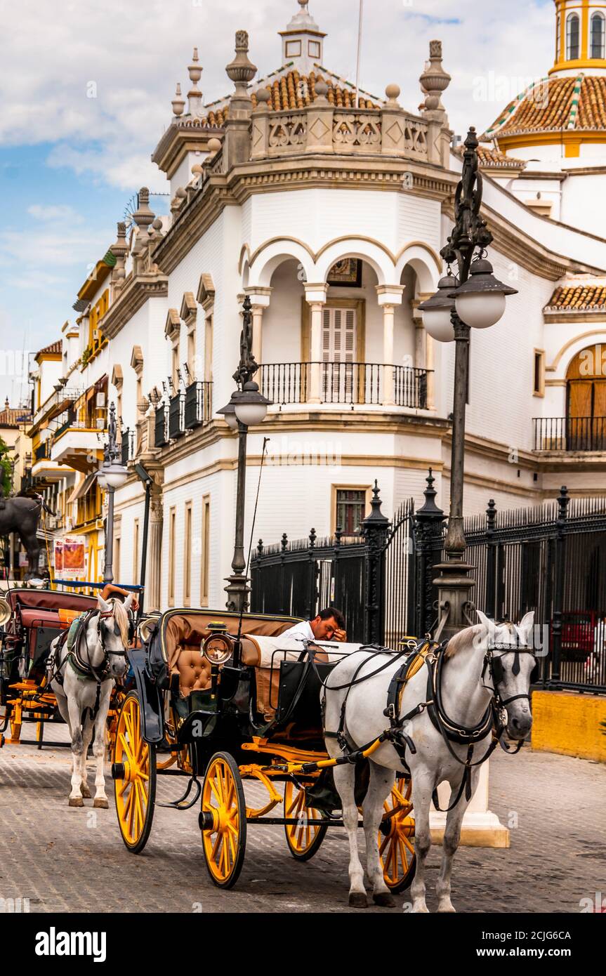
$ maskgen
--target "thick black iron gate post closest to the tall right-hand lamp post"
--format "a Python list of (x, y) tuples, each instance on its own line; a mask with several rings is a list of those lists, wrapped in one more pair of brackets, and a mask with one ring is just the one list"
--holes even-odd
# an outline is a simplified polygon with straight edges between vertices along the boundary
[(417, 616), (416, 631), (419, 636), (431, 629), (435, 617), (433, 603), (435, 587), (433, 566), (440, 562), (443, 547), (443, 526), (446, 515), (435, 504), (437, 494), (433, 487), (435, 478), (429, 468), (424, 490), (424, 505), (415, 513), (415, 543), (417, 549)]

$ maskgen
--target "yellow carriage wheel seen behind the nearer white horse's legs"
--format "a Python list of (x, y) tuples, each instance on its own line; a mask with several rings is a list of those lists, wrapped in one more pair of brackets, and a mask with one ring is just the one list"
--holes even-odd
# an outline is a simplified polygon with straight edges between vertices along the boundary
[[(410, 780), (397, 779), (384, 802), (384, 820), (379, 828), (379, 854), (384, 881), (397, 894), (412, 883), (417, 865), (415, 857), (415, 819)], [(395, 813), (393, 811), (395, 810)], [(392, 814), (389, 816), (389, 814)]]

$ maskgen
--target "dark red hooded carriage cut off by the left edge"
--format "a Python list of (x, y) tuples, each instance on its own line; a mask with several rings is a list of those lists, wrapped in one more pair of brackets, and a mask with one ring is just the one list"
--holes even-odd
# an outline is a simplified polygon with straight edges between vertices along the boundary
[[(95, 596), (60, 590), (13, 587), (0, 598), (0, 733), (10, 729), (11, 744), (32, 741), (41, 749), (45, 722), (61, 720), (47, 680), (51, 644), (97, 608)], [(122, 697), (115, 689), (108, 713), (110, 740)], [(35, 722), (35, 740), (21, 739), (23, 721)]]

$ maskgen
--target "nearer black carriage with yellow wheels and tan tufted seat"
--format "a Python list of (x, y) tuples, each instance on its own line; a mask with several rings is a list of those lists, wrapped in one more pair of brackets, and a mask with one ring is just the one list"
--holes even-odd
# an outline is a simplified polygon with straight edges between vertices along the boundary
[[(136, 688), (118, 716), (112, 764), (118, 823), (129, 850), (139, 853), (147, 841), (156, 776), (166, 772), (189, 780), (181, 800), (168, 805), (190, 809), (201, 799), (204, 857), (220, 887), (231, 887), (240, 874), (250, 823), (283, 826), (299, 860), (315, 854), (329, 827), (343, 826), (335, 815), (342, 804), (332, 780), (335, 760), (324, 745), (320, 688), (359, 645), (305, 648), (281, 636), (294, 623), (190, 609), (142, 622), (141, 647), (128, 652)], [(364, 760), (356, 772), (362, 795)], [(252, 780), (267, 793), (254, 807), (243, 788)], [(392, 891), (410, 884), (415, 870), (410, 792), (410, 781), (399, 774), (380, 828), (384, 880)], [(280, 805), (282, 816), (269, 817)]]

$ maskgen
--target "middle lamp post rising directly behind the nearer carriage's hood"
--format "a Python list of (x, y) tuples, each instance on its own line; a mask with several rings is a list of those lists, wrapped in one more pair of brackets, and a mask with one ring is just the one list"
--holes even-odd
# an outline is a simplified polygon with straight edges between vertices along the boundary
[(227, 578), (227, 609), (236, 613), (243, 613), (248, 607), (250, 588), (244, 573), (246, 559), (244, 557), (244, 507), (246, 491), (246, 441), (248, 428), (263, 424), (267, 407), (271, 405), (261, 393), (253, 377), (259, 369), (259, 364), (253, 355), (253, 313), (250, 296), (246, 296), (242, 305), (242, 333), (240, 335), (240, 363), (233, 374), (237, 389), (231, 394), (231, 399), (218, 413), (222, 414), (226, 424), (232, 430), (238, 431), (238, 480), (236, 488), (236, 519), (233, 559), (231, 560), (230, 577)]

